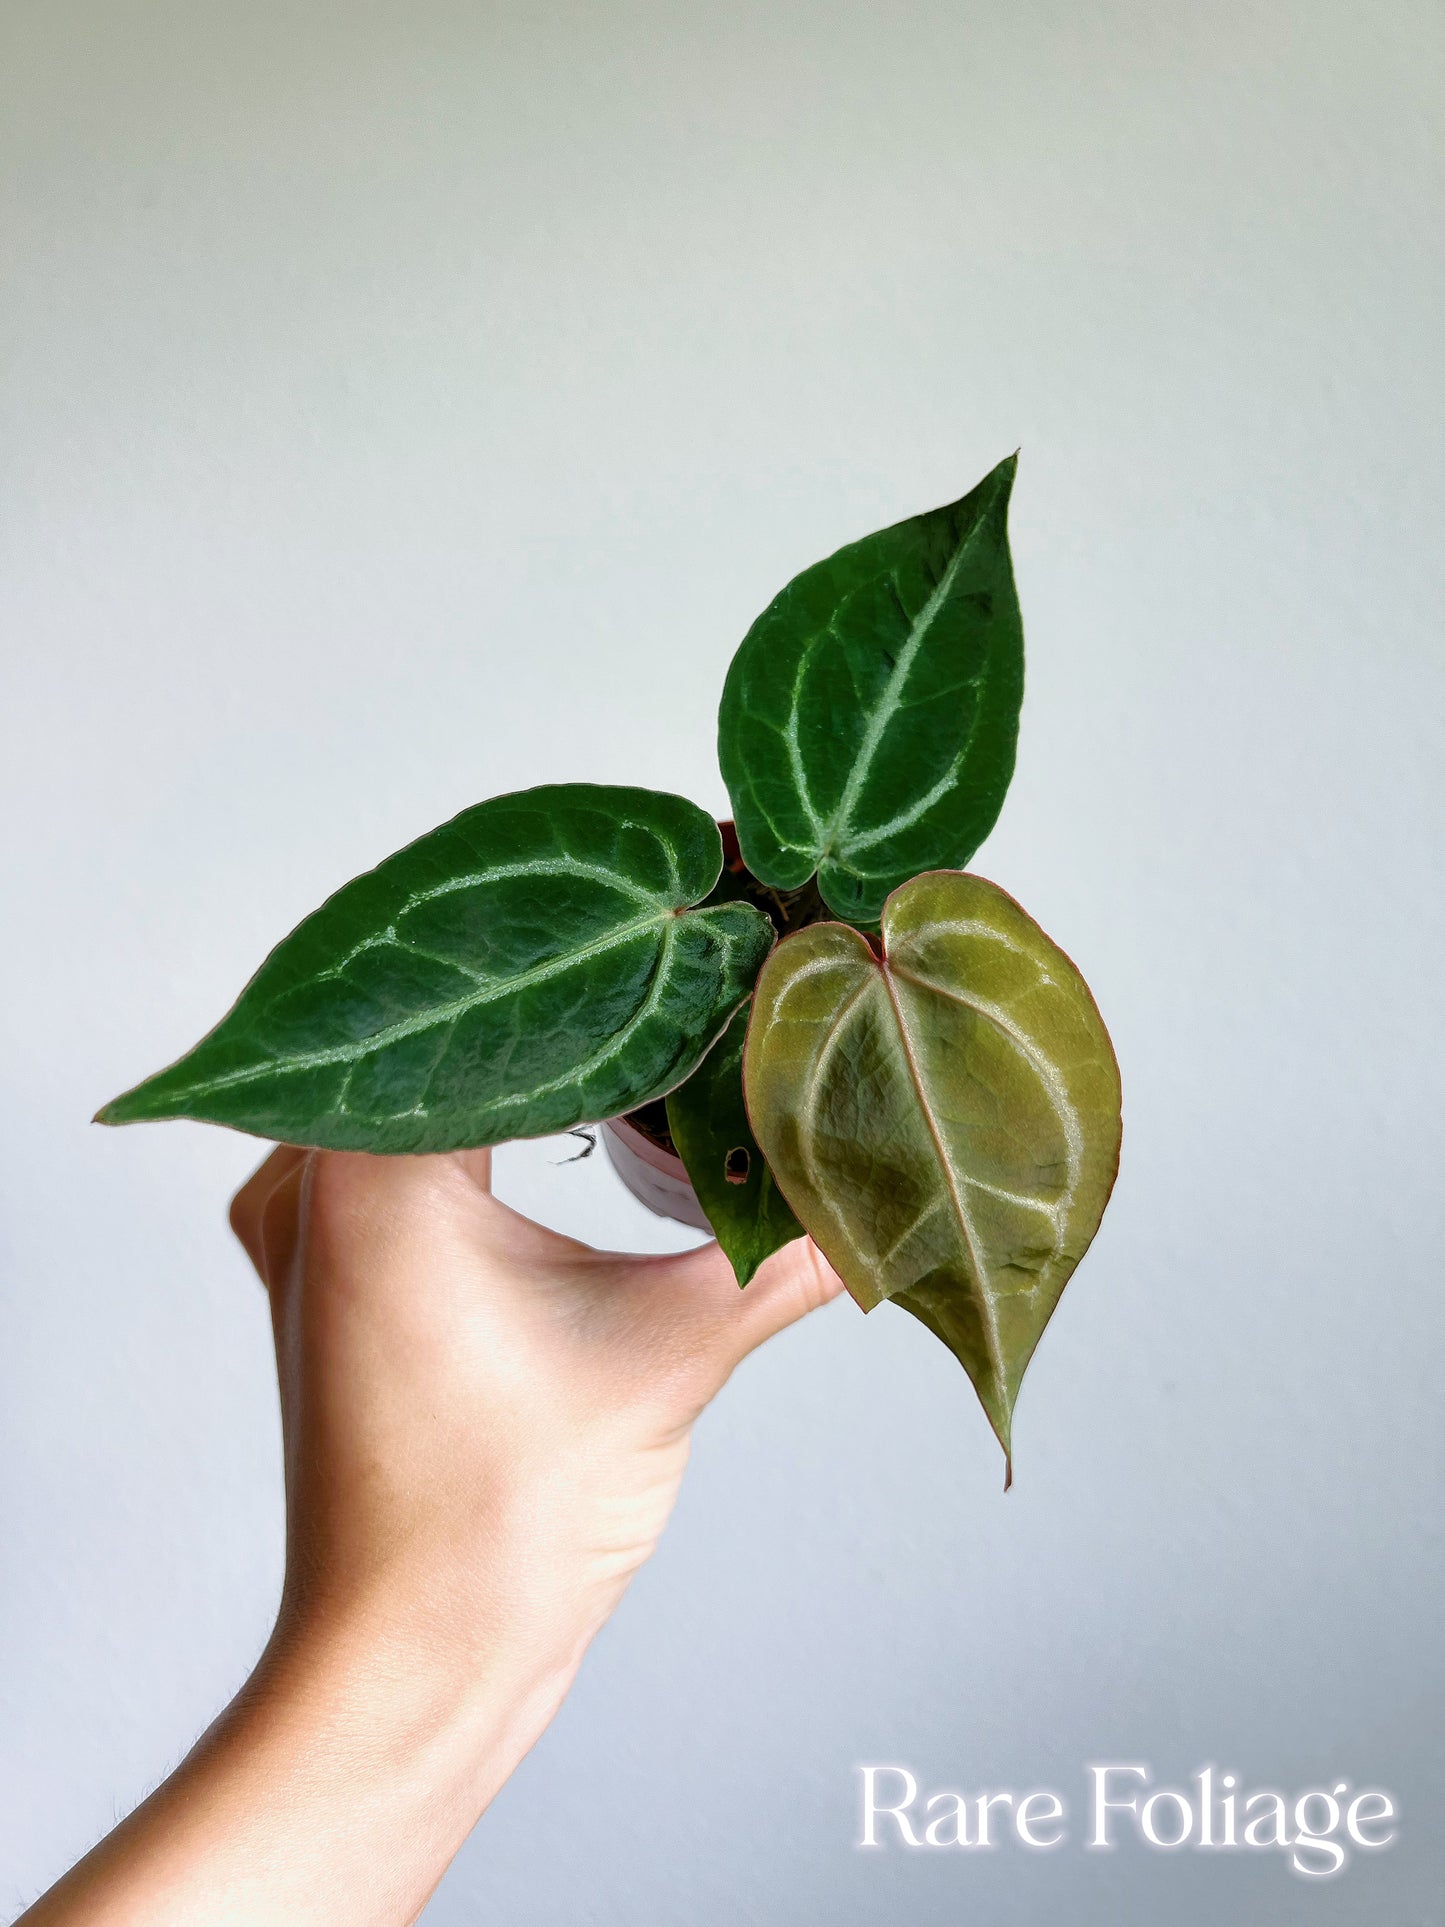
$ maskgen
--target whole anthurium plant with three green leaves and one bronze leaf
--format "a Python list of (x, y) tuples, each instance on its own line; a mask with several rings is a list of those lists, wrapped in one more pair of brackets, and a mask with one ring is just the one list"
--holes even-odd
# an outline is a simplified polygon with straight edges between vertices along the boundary
[(732, 823), (586, 782), (464, 809), (100, 1120), (435, 1152), (630, 1114), (740, 1285), (807, 1231), (948, 1345), (1008, 1455), (1119, 1156), (1083, 977), (965, 871), (1023, 700), (1012, 486), (1013, 459), (763, 611), (719, 715)]

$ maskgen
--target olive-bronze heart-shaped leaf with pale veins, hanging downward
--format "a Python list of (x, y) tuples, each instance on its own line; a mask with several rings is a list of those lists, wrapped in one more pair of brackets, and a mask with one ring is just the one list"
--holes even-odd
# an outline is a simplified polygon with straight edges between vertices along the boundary
[(1079, 971), (992, 883), (934, 871), (763, 965), (753, 1131), (857, 1303), (959, 1359), (1010, 1455), (1023, 1370), (1104, 1214), (1119, 1069)]

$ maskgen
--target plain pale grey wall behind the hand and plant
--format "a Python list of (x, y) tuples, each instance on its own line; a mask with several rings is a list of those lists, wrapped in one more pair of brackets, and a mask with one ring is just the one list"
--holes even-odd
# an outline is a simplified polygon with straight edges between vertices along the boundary
[[(759, 607), (1021, 443), (977, 867), (1090, 977), (1127, 1129), (1017, 1488), (911, 1320), (788, 1333), (428, 1921), (1439, 1923), (1439, 10), (0, 17), (0, 1908), (279, 1576), (254, 1147), (94, 1104), (464, 804), (721, 807)], [(559, 1156), (501, 1189), (667, 1243)], [(1110, 1754), (1383, 1782), (1403, 1840), (852, 1846), (861, 1759)]]

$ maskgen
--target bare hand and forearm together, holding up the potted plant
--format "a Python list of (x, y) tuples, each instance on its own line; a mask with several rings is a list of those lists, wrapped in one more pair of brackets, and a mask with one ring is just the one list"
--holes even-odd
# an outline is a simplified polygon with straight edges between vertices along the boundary
[(800, 1239), (591, 1251), (489, 1152), (277, 1150), (231, 1226), (272, 1307), (287, 1571), (254, 1675), (23, 1927), (403, 1927), (543, 1732), (732, 1368), (842, 1289)]

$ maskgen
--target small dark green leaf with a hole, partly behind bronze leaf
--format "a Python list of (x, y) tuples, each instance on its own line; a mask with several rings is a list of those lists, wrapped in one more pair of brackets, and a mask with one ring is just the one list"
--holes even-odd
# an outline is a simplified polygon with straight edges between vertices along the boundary
[(692, 1077), (667, 1100), (672, 1143), (740, 1285), (751, 1280), (763, 1258), (803, 1235), (748, 1123), (742, 1100), (746, 1035), (744, 1006)]

